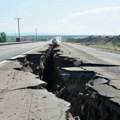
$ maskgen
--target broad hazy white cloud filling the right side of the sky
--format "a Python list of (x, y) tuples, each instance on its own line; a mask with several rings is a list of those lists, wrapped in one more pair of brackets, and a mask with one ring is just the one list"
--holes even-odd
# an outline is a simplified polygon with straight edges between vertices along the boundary
[(120, 34), (120, 7), (95, 8), (56, 22), (62, 31), (76, 34)]

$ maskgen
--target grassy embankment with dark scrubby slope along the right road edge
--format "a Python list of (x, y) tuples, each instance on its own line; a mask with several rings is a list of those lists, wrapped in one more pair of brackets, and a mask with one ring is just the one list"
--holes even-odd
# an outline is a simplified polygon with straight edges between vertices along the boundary
[(86, 38), (67, 38), (67, 42), (80, 43), (86, 46), (120, 51), (120, 36), (89, 36)]

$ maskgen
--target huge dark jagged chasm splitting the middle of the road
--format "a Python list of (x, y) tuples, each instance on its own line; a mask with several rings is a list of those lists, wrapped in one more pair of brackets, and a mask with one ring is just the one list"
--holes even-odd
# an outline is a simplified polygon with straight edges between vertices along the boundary
[[(109, 79), (95, 71), (83, 69), (83, 66), (109, 65), (84, 63), (82, 60), (62, 56), (58, 46), (51, 44), (40, 54), (27, 54), (18, 59), (22, 64), (19, 70), (37, 74), (47, 83), (46, 86), (33, 88), (44, 87), (56, 97), (70, 102), (70, 109), (66, 111), (68, 120), (119, 120), (120, 106), (92, 87), (95, 81), (109, 85)], [(76, 67), (79, 69), (76, 70)]]

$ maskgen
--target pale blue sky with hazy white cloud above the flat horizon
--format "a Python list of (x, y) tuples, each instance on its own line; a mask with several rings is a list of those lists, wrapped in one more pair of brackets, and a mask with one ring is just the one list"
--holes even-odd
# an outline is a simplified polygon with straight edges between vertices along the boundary
[(0, 32), (120, 35), (120, 0), (0, 0)]

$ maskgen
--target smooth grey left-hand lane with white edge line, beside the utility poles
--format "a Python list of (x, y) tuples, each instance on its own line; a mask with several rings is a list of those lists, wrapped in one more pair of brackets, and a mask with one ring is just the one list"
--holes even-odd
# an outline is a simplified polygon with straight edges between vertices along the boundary
[(37, 47), (42, 47), (47, 42), (25, 43), (0, 46), (0, 62), (25, 53)]

